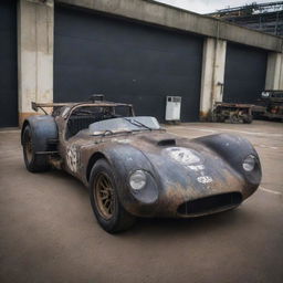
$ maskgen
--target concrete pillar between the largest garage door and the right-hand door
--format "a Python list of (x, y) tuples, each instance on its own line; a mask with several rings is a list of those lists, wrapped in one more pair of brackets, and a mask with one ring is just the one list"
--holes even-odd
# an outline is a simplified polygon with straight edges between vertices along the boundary
[(214, 102), (222, 102), (227, 41), (207, 38), (203, 44), (200, 117), (207, 118)]

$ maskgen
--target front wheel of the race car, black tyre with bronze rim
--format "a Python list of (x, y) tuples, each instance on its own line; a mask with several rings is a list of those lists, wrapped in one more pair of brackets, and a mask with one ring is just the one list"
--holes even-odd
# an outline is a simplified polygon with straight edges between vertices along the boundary
[(95, 163), (90, 180), (90, 198), (94, 214), (108, 233), (130, 228), (135, 217), (120, 205), (113, 169), (105, 159)]

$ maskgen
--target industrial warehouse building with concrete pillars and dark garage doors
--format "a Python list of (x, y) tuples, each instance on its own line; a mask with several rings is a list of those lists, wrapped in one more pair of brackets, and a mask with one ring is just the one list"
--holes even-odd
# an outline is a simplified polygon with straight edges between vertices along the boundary
[(34, 114), (31, 102), (103, 93), (138, 115), (181, 120), (213, 102), (254, 103), (283, 88), (283, 39), (147, 0), (0, 1), (0, 127)]

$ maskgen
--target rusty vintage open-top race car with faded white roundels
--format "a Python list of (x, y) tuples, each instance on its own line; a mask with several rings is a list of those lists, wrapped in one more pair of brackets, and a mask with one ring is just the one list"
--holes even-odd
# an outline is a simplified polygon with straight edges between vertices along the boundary
[(128, 229), (137, 217), (233, 209), (259, 187), (261, 165), (248, 140), (228, 134), (177, 137), (156, 118), (135, 116), (129, 104), (98, 98), (33, 103), (45, 115), (24, 120), (21, 143), (29, 171), (63, 169), (88, 187), (107, 232)]

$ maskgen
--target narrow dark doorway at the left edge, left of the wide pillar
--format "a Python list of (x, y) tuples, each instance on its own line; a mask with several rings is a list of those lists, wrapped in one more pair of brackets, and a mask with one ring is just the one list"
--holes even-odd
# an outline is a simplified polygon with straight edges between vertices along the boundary
[(0, 127), (18, 126), (17, 1), (0, 1)]

